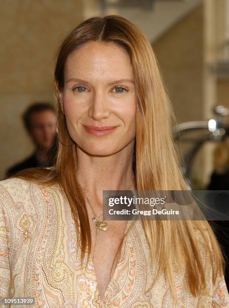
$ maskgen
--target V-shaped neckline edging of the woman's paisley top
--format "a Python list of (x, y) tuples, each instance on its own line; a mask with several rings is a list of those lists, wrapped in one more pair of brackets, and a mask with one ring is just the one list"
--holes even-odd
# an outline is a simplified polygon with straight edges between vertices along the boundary
[(100, 305), (102, 305), (102, 306), (104, 306), (104, 302), (105, 302), (105, 300), (106, 300), (106, 295), (107, 295), (108, 289), (109, 289), (109, 287), (110, 287), (110, 284), (111, 284), (112, 280), (113, 280), (113, 279), (116, 277), (116, 275), (117, 275), (118, 266), (119, 266), (119, 264), (120, 264), (120, 257), (121, 257), (121, 255), (122, 255), (123, 249), (125, 248), (125, 242), (126, 242), (126, 239), (127, 239), (126, 233), (127, 233), (127, 231), (130, 229), (130, 227), (132, 227), (134, 221), (132, 221), (132, 224), (130, 224), (130, 222), (131, 222), (131, 220), (128, 220), (128, 221), (127, 221), (127, 224), (126, 224), (126, 227), (125, 227), (125, 232), (124, 232), (124, 235), (123, 235), (123, 238), (124, 238), (124, 239), (123, 239), (122, 246), (121, 246), (121, 250), (120, 250), (119, 260), (118, 260), (118, 262), (117, 262), (117, 264), (116, 264), (116, 268), (115, 268), (115, 270), (114, 270), (114, 272), (113, 272), (113, 275), (112, 275), (111, 279), (109, 280), (109, 283), (108, 283), (108, 285), (107, 285), (107, 288), (106, 288), (106, 290), (105, 290), (105, 293), (104, 293), (104, 295), (103, 295), (103, 298), (100, 297), (100, 292), (99, 292), (99, 289), (98, 289), (97, 277), (96, 277), (96, 272), (95, 272), (95, 267), (94, 267), (94, 263), (93, 263), (93, 260), (92, 260), (92, 256), (89, 257), (90, 263), (91, 263), (92, 272), (93, 272), (93, 275), (94, 275), (94, 280), (95, 280), (95, 282), (96, 282), (96, 292), (97, 292), (97, 294), (98, 294), (99, 303), (100, 303)]

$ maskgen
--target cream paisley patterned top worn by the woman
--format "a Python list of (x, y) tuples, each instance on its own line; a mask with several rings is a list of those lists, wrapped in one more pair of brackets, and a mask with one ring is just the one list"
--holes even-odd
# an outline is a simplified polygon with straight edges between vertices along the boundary
[(149, 265), (140, 221), (128, 221), (120, 260), (101, 301), (92, 259), (88, 266), (80, 263), (74, 221), (60, 187), (16, 178), (0, 184), (0, 297), (34, 297), (34, 307), (50, 308), (229, 307), (224, 277), (212, 284), (203, 245), (209, 280), (201, 296), (193, 297), (184, 273), (176, 267), (176, 304), (163, 275), (151, 287), (157, 264)]

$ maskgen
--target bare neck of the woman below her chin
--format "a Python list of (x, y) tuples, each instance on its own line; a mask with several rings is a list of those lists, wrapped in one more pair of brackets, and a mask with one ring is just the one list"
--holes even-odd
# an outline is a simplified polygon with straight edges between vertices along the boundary
[[(87, 193), (92, 204), (101, 207), (103, 190), (126, 190), (133, 177), (133, 146), (128, 144), (121, 151), (106, 157), (95, 157), (77, 148), (80, 186)], [(129, 189), (135, 189), (135, 181)]]

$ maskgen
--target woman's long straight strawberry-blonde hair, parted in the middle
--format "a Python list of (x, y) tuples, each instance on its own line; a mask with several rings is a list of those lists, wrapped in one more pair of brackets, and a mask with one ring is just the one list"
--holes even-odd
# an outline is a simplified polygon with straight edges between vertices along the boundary
[[(93, 17), (80, 23), (64, 39), (58, 50), (55, 67), (55, 86), (58, 114), (58, 155), (51, 169), (31, 169), (17, 177), (51, 185), (58, 183), (66, 194), (76, 227), (80, 227), (82, 261), (86, 252), (90, 255), (92, 240), (84, 195), (76, 177), (78, 166), (75, 143), (70, 138), (65, 116), (60, 107), (58, 91), (64, 87), (64, 64), (69, 54), (89, 41), (113, 42), (128, 52), (135, 78), (137, 100), (136, 136), (133, 172), (136, 189), (187, 190), (179, 170), (180, 162), (172, 137), (175, 116), (165, 91), (157, 59), (141, 30), (127, 19), (109, 15)], [(204, 264), (198, 249), (194, 228), (200, 231), (213, 269), (213, 283), (223, 272), (223, 258), (212, 229), (207, 221), (191, 220), (143, 220), (145, 236), (151, 251), (151, 259), (159, 262), (156, 283), (162, 273), (168, 279), (176, 298), (173, 257), (186, 268), (188, 285), (194, 296), (206, 286)], [(210, 241), (209, 241), (210, 239)], [(176, 243), (176, 245), (174, 245)]]

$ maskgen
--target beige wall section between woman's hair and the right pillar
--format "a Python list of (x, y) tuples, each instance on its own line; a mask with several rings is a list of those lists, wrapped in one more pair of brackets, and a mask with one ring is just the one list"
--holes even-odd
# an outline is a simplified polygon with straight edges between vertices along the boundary
[(153, 45), (178, 123), (202, 119), (202, 28), (200, 5)]

